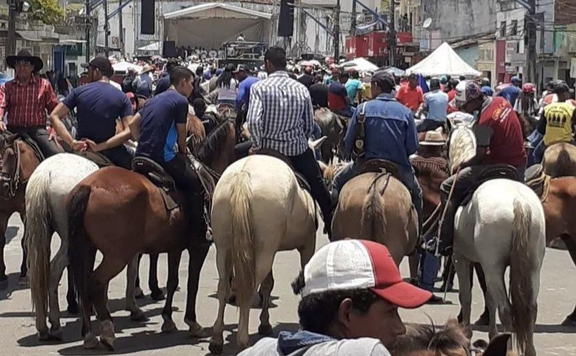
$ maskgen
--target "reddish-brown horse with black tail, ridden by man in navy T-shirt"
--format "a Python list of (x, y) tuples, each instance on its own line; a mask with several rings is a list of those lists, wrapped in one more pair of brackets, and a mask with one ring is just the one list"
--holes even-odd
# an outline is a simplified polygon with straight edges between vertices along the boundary
[[(218, 176), (234, 158), (235, 129), (225, 121), (215, 129), (200, 147), (197, 157), (216, 171)], [(201, 173), (204, 169), (201, 170)], [(210, 187), (210, 188), (213, 188)], [(182, 202), (178, 196), (177, 201)], [(184, 212), (180, 208), (167, 211), (160, 190), (143, 175), (117, 167), (97, 170), (82, 180), (69, 194), (69, 259), (74, 272), (74, 285), (82, 303), (84, 347), (93, 348), (97, 340), (90, 321), (91, 305), (101, 321), (101, 342), (112, 349), (114, 325), (107, 307), (106, 285), (126, 265), (128, 280), (136, 276), (137, 253), (168, 253), (168, 296), (162, 315), (162, 330), (176, 330), (171, 314), (173, 294), (178, 287), (178, 266), (182, 251), (190, 254), (187, 310), (184, 321), (192, 336), (204, 335), (196, 321), (195, 300), (200, 270), (208, 246), (192, 248), (186, 231)], [(115, 221), (115, 224), (110, 224)], [(93, 271), (95, 253), (104, 255)], [(143, 313), (134, 301), (134, 285), (128, 294), (132, 316)]]

